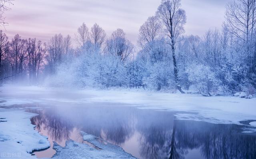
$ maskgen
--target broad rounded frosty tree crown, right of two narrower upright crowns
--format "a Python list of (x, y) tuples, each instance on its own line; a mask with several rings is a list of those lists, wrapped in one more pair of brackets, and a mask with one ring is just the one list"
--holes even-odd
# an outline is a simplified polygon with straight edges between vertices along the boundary
[(134, 46), (126, 39), (124, 30), (117, 29), (112, 33), (111, 38), (107, 40), (106, 49), (109, 54), (115, 55), (121, 61), (125, 61), (134, 51)]

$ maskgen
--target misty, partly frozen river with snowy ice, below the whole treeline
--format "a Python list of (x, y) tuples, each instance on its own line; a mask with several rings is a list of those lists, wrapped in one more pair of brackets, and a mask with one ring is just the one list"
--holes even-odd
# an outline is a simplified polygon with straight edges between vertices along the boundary
[(256, 158), (255, 98), (1, 88), (0, 155), (6, 159)]

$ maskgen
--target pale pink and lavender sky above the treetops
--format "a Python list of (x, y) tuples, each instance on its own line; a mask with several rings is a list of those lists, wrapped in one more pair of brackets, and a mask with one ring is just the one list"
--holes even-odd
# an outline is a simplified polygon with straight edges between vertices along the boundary
[[(127, 38), (137, 43), (138, 30), (153, 16), (161, 0), (15, 0), (5, 13), (6, 34), (12, 38), (37, 38), (43, 42), (56, 33), (74, 37), (84, 22), (99, 24), (110, 35), (122, 28)], [(221, 28), (228, 0), (182, 0), (186, 11), (185, 34), (203, 36), (210, 28)], [(2, 28), (4, 30), (4, 28)]]

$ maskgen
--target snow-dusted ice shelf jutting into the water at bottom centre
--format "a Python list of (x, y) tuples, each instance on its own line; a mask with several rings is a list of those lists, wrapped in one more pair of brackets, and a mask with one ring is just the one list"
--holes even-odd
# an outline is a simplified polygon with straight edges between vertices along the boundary
[(133, 157), (130, 153), (126, 153), (121, 147), (111, 143), (104, 144), (94, 135), (84, 132), (81, 133), (84, 141), (91, 143), (99, 149), (75, 141), (66, 141), (65, 147), (61, 147), (54, 142), (53, 148), (56, 150), (56, 154), (52, 159), (136, 159), (136, 157)]

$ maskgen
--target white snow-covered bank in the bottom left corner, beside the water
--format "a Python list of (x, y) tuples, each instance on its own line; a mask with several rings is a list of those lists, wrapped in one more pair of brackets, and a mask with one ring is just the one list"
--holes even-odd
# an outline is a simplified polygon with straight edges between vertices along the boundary
[(50, 147), (47, 137), (34, 130), (30, 118), (34, 113), (16, 109), (0, 108), (0, 117), (6, 122), (0, 122), (0, 153), (5, 159), (21, 157), (34, 159), (30, 153)]

